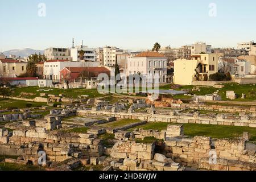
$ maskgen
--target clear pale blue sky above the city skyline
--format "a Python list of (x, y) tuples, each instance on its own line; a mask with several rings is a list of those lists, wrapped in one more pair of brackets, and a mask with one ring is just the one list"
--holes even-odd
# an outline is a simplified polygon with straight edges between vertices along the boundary
[[(38, 4), (46, 3), (46, 17)], [(217, 16), (210, 17), (209, 3)], [(0, 51), (117, 46), (147, 49), (159, 42), (179, 47), (197, 41), (213, 47), (256, 42), (254, 0), (0, 0)]]

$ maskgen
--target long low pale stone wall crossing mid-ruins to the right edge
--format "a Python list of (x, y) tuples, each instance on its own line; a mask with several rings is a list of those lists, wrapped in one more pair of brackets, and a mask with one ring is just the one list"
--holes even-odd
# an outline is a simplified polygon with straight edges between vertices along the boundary
[(229, 119), (223, 117), (207, 117), (196, 115), (167, 115), (167, 114), (146, 114), (146, 113), (112, 113), (108, 111), (79, 110), (79, 115), (103, 114), (117, 119), (140, 119), (147, 122), (167, 122), (167, 123), (197, 123), (205, 125), (225, 125), (225, 126), (247, 126), (256, 127), (256, 121), (240, 117), (240, 119)]

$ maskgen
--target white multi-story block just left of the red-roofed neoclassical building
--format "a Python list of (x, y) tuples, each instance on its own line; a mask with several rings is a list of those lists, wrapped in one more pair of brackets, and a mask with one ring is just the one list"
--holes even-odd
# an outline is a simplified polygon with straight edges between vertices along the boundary
[[(109, 47), (106, 46), (103, 48), (103, 64), (108, 67), (113, 67), (115, 65), (115, 61), (117, 60), (117, 55), (127, 55), (128, 52), (123, 49), (119, 49), (117, 47)], [(128, 56), (124, 57), (128, 59)], [(121, 63), (122, 57), (119, 56), (119, 62)]]

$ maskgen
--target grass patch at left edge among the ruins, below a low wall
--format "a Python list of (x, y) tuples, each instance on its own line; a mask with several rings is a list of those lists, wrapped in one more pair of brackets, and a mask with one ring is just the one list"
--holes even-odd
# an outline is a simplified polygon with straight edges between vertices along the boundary
[(19, 100), (10, 100), (10, 99), (3, 99), (0, 98), (0, 110), (2, 109), (22, 109), (27, 108), (26, 104), (32, 104), (31, 107), (40, 107), (40, 106), (46, 106), (47, 103), (45, 102), (27, 102), (27, 101), (19, 101)]

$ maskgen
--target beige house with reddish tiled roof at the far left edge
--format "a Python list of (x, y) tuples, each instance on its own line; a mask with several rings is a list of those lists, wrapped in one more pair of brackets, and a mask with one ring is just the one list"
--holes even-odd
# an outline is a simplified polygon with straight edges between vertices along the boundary
[(27, 63), (13, 59), (0, 60), (0, 77), (17, 77), (27, 72)]

